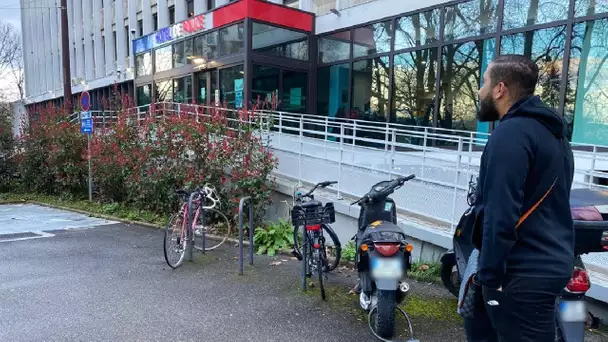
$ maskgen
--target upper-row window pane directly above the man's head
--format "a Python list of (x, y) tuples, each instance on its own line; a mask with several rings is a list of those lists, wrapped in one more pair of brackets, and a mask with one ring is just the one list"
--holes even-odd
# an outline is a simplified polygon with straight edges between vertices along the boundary
[(550, 23), (568, 17), (568, 0), (504, 0), (503, 30)]

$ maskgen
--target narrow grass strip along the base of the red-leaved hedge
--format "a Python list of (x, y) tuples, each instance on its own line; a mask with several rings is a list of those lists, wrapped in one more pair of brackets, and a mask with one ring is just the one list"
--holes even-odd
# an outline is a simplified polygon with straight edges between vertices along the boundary
[(122, 203), (89, 202), (88, 200), (80, 198), (36, 194), (0, 194), (0, 204), (16, 202), (39, 202), (50, 206), (86, 211), (93, 215), (113, 216), (124, 220), (139, 221), (158, 226), (166, 225), (168, 219), (166, 215), (158, 215), (145, 210), (137, 210)]

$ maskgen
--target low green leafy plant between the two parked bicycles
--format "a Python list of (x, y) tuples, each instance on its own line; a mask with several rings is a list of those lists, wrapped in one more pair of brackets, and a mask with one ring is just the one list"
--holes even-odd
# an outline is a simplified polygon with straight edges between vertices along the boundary
[(293, 227), (291, 223), (279, 219), (266, 228), (256, 228), (254, 240), (259, 254), (273, 256), (280, 249), (293, 247)]

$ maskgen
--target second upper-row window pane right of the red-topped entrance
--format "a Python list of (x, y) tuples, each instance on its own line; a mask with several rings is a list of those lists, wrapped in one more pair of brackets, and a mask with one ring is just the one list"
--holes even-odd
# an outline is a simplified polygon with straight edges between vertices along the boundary
[(363, 57), (391, 50), (390, 21), (360, 27), (354, 31), (353, 57)]

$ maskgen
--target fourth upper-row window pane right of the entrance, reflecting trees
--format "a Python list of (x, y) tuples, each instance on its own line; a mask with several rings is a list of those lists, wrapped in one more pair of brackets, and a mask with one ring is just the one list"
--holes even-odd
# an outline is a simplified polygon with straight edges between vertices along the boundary
[(472, 0), (445, 8), (445, 40), (496, 31), (498, 0)]

